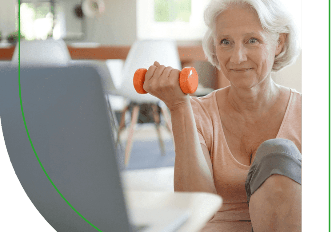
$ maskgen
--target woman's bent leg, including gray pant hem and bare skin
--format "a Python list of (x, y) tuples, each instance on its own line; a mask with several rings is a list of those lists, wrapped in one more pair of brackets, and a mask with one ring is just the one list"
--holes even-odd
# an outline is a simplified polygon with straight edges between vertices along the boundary
[(268, 140), (257, 149), (246, 181), (254, 232), (301, 231), (301, 161), (289, 140)]

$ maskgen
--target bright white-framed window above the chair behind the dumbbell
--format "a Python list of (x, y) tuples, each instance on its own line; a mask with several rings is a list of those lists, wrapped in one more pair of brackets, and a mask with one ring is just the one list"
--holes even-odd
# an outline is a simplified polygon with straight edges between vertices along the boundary
[(199, 40), (209, 0), (137, 0), (138, 39)]

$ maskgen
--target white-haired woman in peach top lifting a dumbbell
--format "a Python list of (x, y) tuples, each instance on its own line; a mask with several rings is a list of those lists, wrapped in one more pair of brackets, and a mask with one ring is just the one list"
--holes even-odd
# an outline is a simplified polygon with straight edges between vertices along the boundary
[(144, 89), (171, 112), (175, 191), (216, 193), (223, 205), (203, 231), (301, 231), (301, 94), (276, 72), (299, 53), (277, 0), (219, 0), (205, 10), (203, 47), (230, 86), (204, 97), (155, 62)]

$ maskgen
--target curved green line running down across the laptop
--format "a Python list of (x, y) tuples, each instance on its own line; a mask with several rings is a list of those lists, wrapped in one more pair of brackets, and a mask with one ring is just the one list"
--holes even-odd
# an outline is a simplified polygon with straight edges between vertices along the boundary
[(21, 105), (21, 110), (22, 110), (22, 117), (23, 117), (23, 122), (24, 122), (24, 126), (25, 129), (27, 131), (27, 135), (31, 144), (32, 149), (34, 150), (34, 153), (36, 155), (36, 158), (39, 162), (39, 164), (41, 165), (42, 170), (44, 171), (46, 177), (48, 178), (49, 182), (51, 182), (51, 184), (53, 185), (54, 189), (58, 192), (58, 194), (62, 197), (62, 199), (81, 217), (83, 218), (87, 223), (89, 223), (93, 228), (95, 228), (96, 230), (103, 232), (102, 230), (98, 229), (95, 225), (93, 225), (90, 221), (88, 221), (85, 217), (83, 217), (68, 201), (67, 199), (64, 198), (64, 196), (60, 193), (60, 191), (56, 188), (56, 186), (54, 185), (54, 183), (52, 182), (51, 178), (49, 178), (47, 172), (45, 171), (44, 167), (41, 164), (41, 161), (36, 153), (35, 147), (32, 144), (31, 138), (30, 138), (30, 134), (27, 128), (27, 124), (25, 121), (25, 117), (24, 117), (24, 112), (23, 112), (23, 105), (22, 105), (22, 96), (21, 96), (21, 0), (19, 0), (19, 94), (20, 94), (20, 105)]

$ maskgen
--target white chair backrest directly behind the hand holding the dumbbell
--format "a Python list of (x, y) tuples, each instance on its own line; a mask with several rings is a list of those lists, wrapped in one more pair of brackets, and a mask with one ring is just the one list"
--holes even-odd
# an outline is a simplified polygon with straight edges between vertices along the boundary
[(123, 82), (119, 89), (121, 95), (134, 102), (158, 102), (158, 98), (150, 94), (139, 94), (133, 85), (133, 76), (137, 69), (148, 69), (158, 61), (161, 65), (181, 70), (181, 62), (177, 44), (173, 40), (137, 40), (131, 46), (123, 68)]

